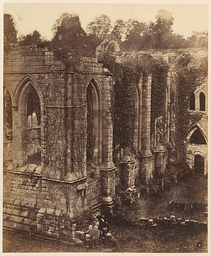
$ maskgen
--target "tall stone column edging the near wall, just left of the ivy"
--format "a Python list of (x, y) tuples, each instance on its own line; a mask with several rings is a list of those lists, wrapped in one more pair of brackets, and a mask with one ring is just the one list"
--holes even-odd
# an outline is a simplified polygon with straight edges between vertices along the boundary
[(107, 69), (104, 69), (102, 90), (102, 202), (107, 210), (113, 203), (112, 196), (115, 193), (115, 165), (113, 163), (113, 123), (111, 116), (112, 77)]

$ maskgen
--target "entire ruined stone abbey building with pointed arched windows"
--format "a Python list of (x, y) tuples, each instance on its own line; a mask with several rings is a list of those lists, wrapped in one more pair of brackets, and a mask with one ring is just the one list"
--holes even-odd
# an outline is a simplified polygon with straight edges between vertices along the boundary
[[(108, 47), (100, 45), (97, 53)], [(167, 61), (175, 55), (156, 54)], [(200, 58), (207, 53), (194, 54)], [(127, 188), (133, 189), (137, 177), (144, 184), (155, 168), (163, 172), (169, 162), (175, 161), (175, 114), (169, 108), (170, 92), (176, 90), (173, 70), (168, 73), (166, 89), (169, 148), (157, 139), (159, 130), (150, 140), (151, 75), (145, 74), (136, 88), (137, 154), (124, 148), (114, 164), (112, 74), (97, 57), (81, 57), (75, 65), (75, 70), (64, 72), (63, 63), (55, 59), (54, 53), (36, 46), (13, 45), (5, 55), (5, 227), (25, 231), (35, 228), (41, 234), (67, 240), (74, 229), (65, 233), (59, 227), (50, 228), (46, 216), (59, 217), (61, 211), (68, 211), (72, 218), (89, 207), (96, 212), (110, 211), (115, 185), (124, 181)], [(203, 114), (187, 137), (188, 163), (195, 173), (206, 174), (207, 79), (190, 96), (188, 111)], [(87, 148), (88, 125), (93, 132), (92, 155)]]

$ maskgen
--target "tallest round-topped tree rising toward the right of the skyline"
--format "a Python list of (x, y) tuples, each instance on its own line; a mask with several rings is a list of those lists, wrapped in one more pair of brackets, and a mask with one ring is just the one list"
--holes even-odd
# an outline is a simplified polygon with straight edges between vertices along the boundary
[(155, 49), (172, 48), (173, 20), (172, 14), (164, 9), (160, 10), (156, 15), (156, 22), (153, 28)]

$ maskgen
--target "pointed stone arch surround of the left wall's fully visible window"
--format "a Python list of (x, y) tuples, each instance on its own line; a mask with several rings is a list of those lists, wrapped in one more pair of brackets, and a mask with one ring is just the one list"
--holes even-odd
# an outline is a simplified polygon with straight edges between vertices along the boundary
[[(42, 127), (44, 127), (44, 121), (40, 121), (39, 127), (28, 127), (28, 99), (31, 93), (34, 92), (36, 94), (37, 100), (40, 103), (40, 120), (44, 120), (43, 114), (45, 115), (44, 111), (44, 97), (43, 93), (41, 92), (39, 84), (31, 75), (26, 75), (23, 79), (18, 83), (14, 101), (15, 101), (15, 108), (13, 108), (13, 163), (22, 166), (27, 163), (35, 163), (41, 165), (41, 159), (37, 162), (31, 162), (28, 159), (28, 156), (33, 155), (29, 153), (29, 143), (28, 140), (31, 142), (33, 140), (39, 141), (39, 145), (37, 143), (37, 151), (41, 152), (41, 144), (44, 141), (44, 133), (41, 132)], [(33, 115), (33, 111), (31, 113)], [(35, 116), (35, 115), (34, 115)], [(35, 118), (36, 119), (36, 118)], [(34, 121), (35, 121), (34, 119)], [(32, 124), (32, 120), (31, 120)], [(39, 132), (31, 132), (30, 129), (35, 128), (35, 130), (39, 130)], [(34, 134), (33, 134), (34, 133)], [(37, 153), (35, 151), (34, 153)], [(39, 153), (40, 154), (40, 153)], [(45, 157), (42, 155), (42, 157)], [(30, 160), (30, 162), (29, 162)]]

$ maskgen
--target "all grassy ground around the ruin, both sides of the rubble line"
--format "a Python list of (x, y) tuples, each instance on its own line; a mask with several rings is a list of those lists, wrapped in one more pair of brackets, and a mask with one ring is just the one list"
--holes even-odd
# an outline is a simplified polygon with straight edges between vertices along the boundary
[[(207, 203), (207, 179), (204, 176), (189, 176), (186, 182), (178, 181), (175, 186), (163, 191), (159, 196), (140, 199), (138, 217), (170, 216), (207, 221), (203, 211), (181, 212), (169, 209), (172, 200), (180, 202)], [(130, 209), (134, 212), (134, 209)], [(207, 232), (199, 230), (147, 230), (112, 224), (111, 232), (116, 246), (107, 244), (97, 248), (71, 246), (35, 236), (3, 231), (3, 252), (207, 252)], [(202, 241), (200, 247), (196, 243)]]

